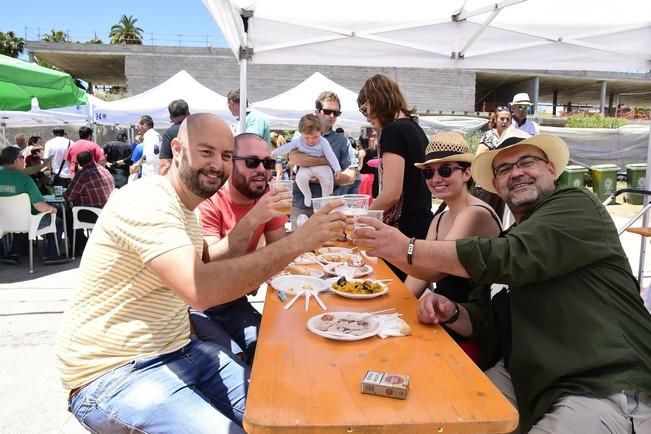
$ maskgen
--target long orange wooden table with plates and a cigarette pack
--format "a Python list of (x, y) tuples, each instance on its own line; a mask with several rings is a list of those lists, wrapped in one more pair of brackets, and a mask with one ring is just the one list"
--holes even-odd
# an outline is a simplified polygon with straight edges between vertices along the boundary
[[(321, 295), (331, 311), (395, 307), (411, 326), (407, 337), (325, 339), (306, 328), (323, 311), (300, 299), (289, 310), (271, 288), (244, 414), (249, 433), (504, 433), (518, 414), (441, 326), (418, 322), (418, 301), (382, 260), (370, 276), (391, 278), (388, 294), (369, 300)], [(361, 393), (366, 371), (406, 374), (406, 400)]]

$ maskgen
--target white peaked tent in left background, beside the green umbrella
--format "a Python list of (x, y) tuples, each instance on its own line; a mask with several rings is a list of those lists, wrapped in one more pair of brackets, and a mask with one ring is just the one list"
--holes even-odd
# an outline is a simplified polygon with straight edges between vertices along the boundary
[(184, 99), (190, 113), (213, 113), (229, 123), (235, 122), (226, 97), (202, 85), (184, 70), (141, 94), (117, 101), (96, 100), (94, 122), (127, 127), (137, 123), (140, 116), (149, 115), (156, 128), (167, 128), (171, 125), (167, 106), (175, 99)]

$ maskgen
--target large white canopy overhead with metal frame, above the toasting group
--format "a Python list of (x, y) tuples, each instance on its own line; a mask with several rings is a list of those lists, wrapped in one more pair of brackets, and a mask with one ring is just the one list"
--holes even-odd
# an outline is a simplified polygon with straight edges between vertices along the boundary
[(240, 61), (243, 98), (248, 62), (651, 71), (648, 0), (202, 1)]

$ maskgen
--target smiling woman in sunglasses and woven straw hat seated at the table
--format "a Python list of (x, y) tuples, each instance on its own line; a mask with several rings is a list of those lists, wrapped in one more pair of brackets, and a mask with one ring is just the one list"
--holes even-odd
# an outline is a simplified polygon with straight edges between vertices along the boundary
[[(432, 136), (426, 149), (425, 161), (414, 165), (421, 169), (429, 191), (445, 202), (447, 210), (438, 213), (427, 233), (429, 240), (456, 240), (472, 236), (495, 237), (502, 224), (495, 212), (481, 199), (470, 193), (472, 183), (470, 164), (475, 155), (468, 152), (468, 143), (459, 133), (439, 133)], [(445, 273), (434, 276), (433, 292), (457, 302), (468, 301), (470, 280)], [(428, 282), (408, 276), (405, 285), (420, 297)], [(452, 332), (463, 350), (473, 359), (479, 356), (479, 346)]]

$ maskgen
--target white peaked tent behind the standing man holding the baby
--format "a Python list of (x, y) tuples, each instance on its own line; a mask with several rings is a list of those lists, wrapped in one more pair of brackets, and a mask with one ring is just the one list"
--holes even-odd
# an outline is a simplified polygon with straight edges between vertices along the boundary
[(357, 109), (357, 94), (315, 72), (298, 86), (272, 98), (251, 104), (268, 116), (269, 126), (274, 129), (296, 129), (300, 118), (314, 113), (316, 97), (324, 90), (331, 90), (341, 101), (341, 116), (337, 126), (348, 131), (359, 131), (366, 118)]

